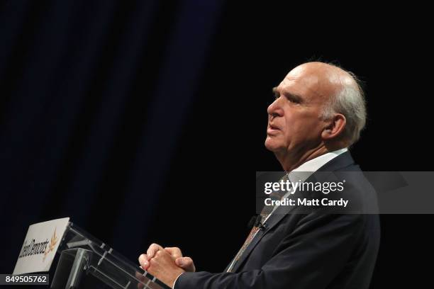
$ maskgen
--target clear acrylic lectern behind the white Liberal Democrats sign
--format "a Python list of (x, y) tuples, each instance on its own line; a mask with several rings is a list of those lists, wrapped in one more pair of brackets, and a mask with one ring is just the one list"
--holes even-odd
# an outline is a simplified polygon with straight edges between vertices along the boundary
[(69, 222), (50, 288), (167, 289), (136, 263)]

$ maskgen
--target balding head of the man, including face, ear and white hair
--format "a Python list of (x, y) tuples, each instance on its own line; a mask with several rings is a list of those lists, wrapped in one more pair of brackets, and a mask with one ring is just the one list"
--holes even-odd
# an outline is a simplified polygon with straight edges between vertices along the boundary
[(357, 79), (333, 64), (301, 64), (273, 91), (265, 145), (275, 153), (347, 147), (365, 126), (365, 99)]

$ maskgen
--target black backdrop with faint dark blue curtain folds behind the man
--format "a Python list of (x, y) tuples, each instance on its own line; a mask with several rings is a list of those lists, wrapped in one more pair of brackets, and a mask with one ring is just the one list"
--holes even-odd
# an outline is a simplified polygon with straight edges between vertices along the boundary
[[(429, 17), (348, 5), (1, 1), (0, 272), (28, 225), (66, 216), (131, 260), (157, 242), (223, 270), (255, 171), (280, 169), (271, 88), (309, 60), (365, 83), (362, 169), (432, 170)], [(381, 218), (372, 288), (423, 282), (433, 216)]]

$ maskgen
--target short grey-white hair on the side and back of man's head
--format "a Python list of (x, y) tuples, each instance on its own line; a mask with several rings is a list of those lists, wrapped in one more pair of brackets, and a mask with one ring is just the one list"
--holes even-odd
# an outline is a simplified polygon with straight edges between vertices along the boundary
[(337, 93), (325, 103), (321, 118), (328, 120), (334, 113), (342, 113), (347, 124), (343, 131), (343, 137), (353, 145), (360, 138), (360, 132), (366, 124), (366, 101), (360, 80), (355, 74), (347, 72), (354, 79), (353, 84), (343, 83)]

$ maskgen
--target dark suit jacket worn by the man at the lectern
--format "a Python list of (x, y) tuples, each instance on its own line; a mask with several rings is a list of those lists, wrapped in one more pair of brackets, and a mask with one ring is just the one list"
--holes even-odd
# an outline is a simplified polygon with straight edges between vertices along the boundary
[[(376, 200), (349, 152), (318, 171), (352, 171), (352, 196)], [(174, 288), (369, 288), (379, 234), (378, 215), (273, 213), (232, 273), (184, 273)]]

